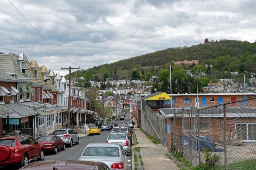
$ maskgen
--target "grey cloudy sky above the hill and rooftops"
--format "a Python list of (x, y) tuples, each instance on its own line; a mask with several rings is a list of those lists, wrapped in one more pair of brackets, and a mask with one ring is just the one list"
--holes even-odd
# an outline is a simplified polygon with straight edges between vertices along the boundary
[(24, 52), (63, 76), (61, 67), (86, 70), (205, 38), (256, 40), (255, 0), (1, 0), (0, 7), (0, 52)]

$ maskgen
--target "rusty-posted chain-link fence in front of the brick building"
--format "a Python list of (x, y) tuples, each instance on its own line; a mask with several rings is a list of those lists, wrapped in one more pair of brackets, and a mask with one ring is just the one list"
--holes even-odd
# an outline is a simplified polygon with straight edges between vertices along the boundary
[(256, 168), (256, 97), (182, 109), (174, 114), (173, 128), (174, 150), (193, 165)]

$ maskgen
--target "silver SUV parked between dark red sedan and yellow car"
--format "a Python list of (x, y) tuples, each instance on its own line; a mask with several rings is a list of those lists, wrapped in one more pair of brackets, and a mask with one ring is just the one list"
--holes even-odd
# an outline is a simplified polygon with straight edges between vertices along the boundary
[(65, 142), (65, 145), (69, 145), (69, 147), (72, 147), (74, 142), (77, 145), (79, 144), (78, 134), (71, 128), (57, 129), (54, 130), (52, 134), (60, 137), (60, 139), (62, 139)]

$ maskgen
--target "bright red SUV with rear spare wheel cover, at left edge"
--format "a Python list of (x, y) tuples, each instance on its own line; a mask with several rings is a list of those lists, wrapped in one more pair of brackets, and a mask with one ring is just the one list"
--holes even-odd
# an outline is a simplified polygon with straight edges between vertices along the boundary
[(27, 165), (31, 160), (44, 160), (44, 147), (28, 135), (0, 138), (0, 166)]

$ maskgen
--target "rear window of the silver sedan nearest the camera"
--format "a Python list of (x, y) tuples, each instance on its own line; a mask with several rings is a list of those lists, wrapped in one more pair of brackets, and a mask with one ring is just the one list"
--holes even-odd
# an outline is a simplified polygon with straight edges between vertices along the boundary
[(112, 156), (119, 157), (118, 147), (87, 147), (83, 156)]

